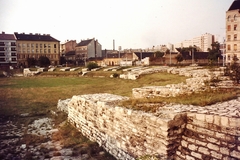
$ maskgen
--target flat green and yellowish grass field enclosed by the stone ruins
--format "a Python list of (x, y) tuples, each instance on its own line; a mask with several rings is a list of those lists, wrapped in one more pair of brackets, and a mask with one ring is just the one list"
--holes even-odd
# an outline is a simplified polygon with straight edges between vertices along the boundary
[(73, 95), (111, 93), (131, 97), (132, 88), (180, 83), (185, 79), (167, 73), (146, 75), (138, 80), (88, 76), (0, 78), (0, 115), (48, 112), (56, 109), (59, 99)]

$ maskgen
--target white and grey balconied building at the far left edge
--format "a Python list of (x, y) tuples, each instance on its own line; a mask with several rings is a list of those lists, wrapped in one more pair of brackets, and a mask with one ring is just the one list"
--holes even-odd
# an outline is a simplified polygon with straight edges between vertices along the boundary
[(16, 37), (14, 34), (0, 34), (0, 66), (16, 66)]

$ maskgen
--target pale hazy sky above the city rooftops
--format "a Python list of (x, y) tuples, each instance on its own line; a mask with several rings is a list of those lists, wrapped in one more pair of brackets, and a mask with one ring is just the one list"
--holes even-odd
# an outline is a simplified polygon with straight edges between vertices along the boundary
[(61, 42), (98, 39), (102, 49), (151, 48), (225, 36), (234, 0), (0, 0), (0, 32), (51, 34)]

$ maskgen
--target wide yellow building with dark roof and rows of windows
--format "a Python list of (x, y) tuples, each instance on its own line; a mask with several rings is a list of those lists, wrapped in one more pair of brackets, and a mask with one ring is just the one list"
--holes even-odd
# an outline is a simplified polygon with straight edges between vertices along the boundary
[(28, 58), (38, 60), (48, 57), (52, 65), (58, 65), (60, 60), (60, 41), (50, 34), (14, 33), (17, 38), (17, 58), (21, 66), (28, 66)]

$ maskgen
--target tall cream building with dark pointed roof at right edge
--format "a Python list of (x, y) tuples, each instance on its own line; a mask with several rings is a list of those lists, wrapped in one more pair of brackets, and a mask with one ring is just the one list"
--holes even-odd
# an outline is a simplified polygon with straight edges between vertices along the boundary
[(234, 56), (240, 59), (240, 0), (235, 0), (226, 12), (226, 62)]

